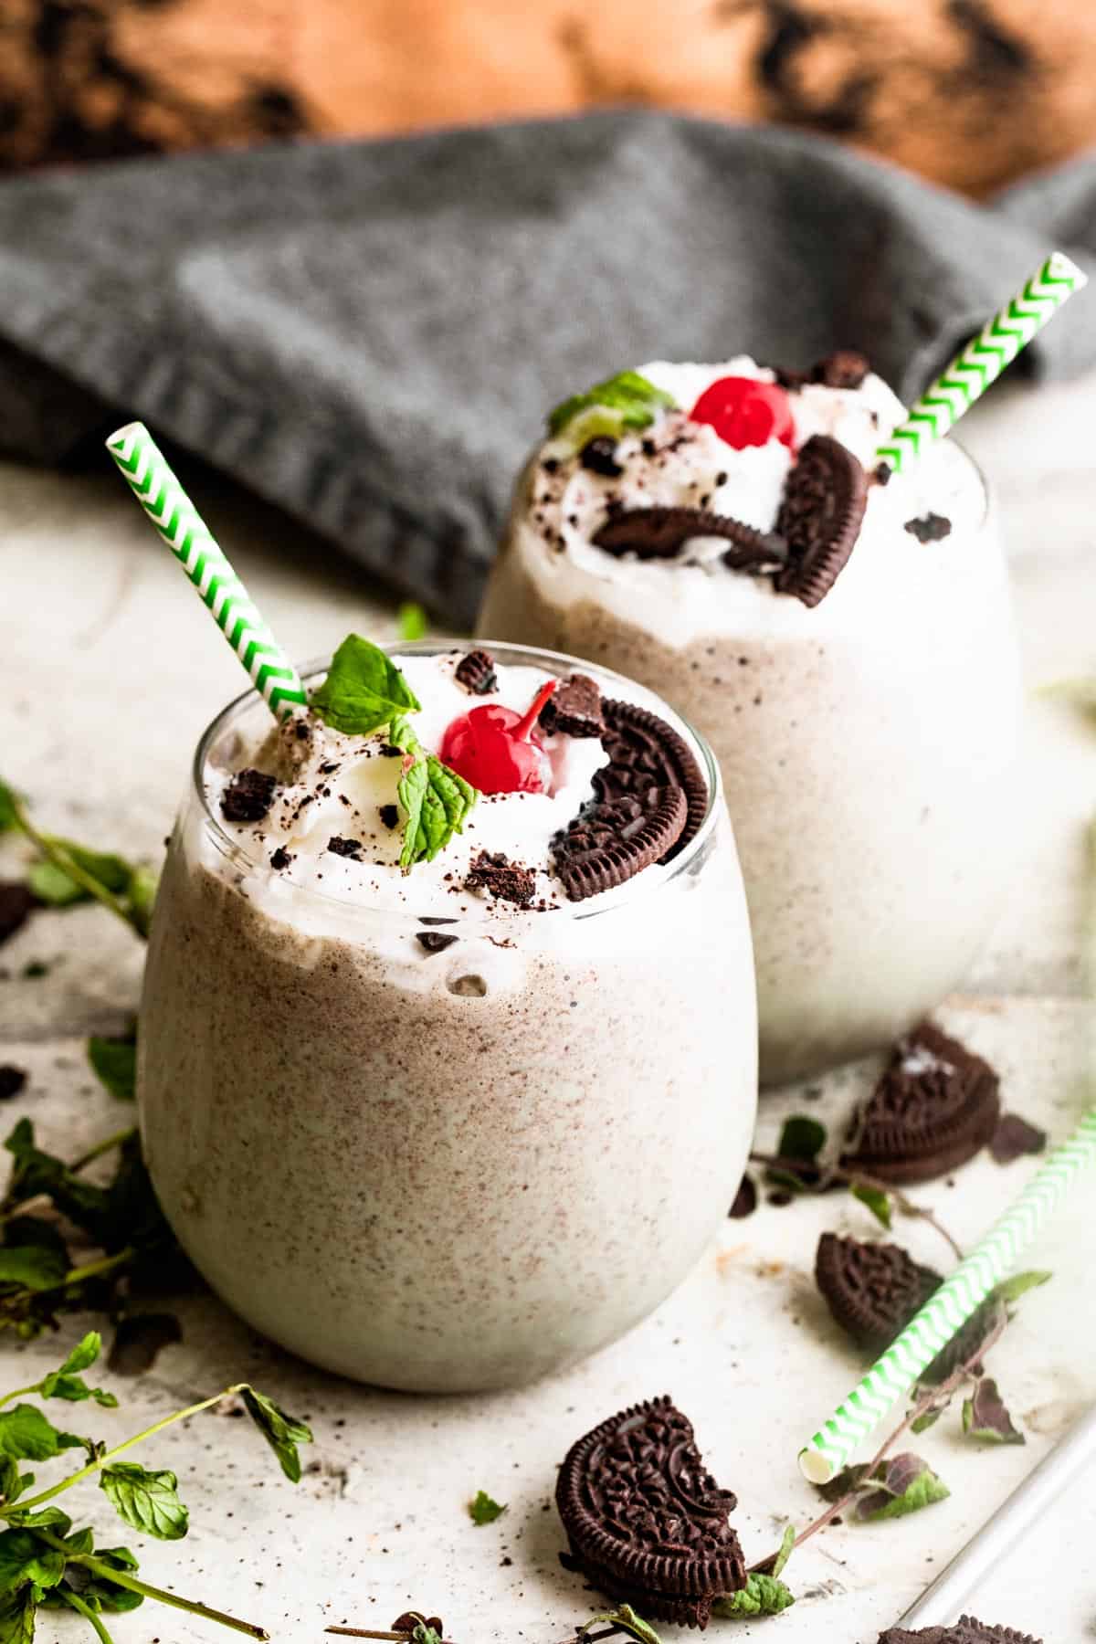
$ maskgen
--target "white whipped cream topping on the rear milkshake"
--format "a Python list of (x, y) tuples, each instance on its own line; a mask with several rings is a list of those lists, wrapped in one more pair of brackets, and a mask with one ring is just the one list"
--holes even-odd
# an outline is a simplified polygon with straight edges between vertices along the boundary
[[(920, 556), (946, 566), (955, 543), (920, 543), (905, 531), (909, 520), (945, 515), (953, 533), (981, 521), (984, 496), (969, 460), (953, 442), (932, 446), (909, 470), (873, 485), (853, 556), (817, 612), (790, 593), (777, 593), (771, 579), (733, 570), (723, 562), (726, 543), (695, 538), (674, 561), (638, 561), (608, 554), (592, 541), (610, 505), (618, 508), (705, 508), (771, 531), (789, 467), (794, 460), (777, 439), (741, 450), (728, 446), (688, 411), (723, 376), (771, 383), (776, 373), (748, 355), (718, 365), (654, 360), (639, 367), (677, 409), (616, 442), (619, 475), (592, 472), (580, 462), (567, 431), (547, 439), (531, 457), (518, 485), (511, 516), (513, 549), (546, 598), (569, 605), (592, 600), (623, 621), (657, 633), (670, 644), (692, 643), (705, 633), (733, 631), (743, 618), (774, 633), (812, 633), (828, 623), (871, 620), (886, 595), (886, 556)], [(840, 441), (871, 470), (874, 452), (900, 423), (905, 409), (882, 378), (868, 373), (859, 388), (807, 383), (789, 391), (795, 444), (813, 434)], [(884, 541), (886, 539), (886, 541)]]

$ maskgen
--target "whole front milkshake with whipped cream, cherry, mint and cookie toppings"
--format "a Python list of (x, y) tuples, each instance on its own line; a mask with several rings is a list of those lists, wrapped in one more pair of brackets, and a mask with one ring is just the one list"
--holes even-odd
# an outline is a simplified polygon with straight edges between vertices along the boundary
[(756, 1116), (746, 901), (705, 743), (567, 658), (350, 638), (210, 727), (138, 1095), (184, 1248), (360, 1381), (532, 1379), (654, 1309)]

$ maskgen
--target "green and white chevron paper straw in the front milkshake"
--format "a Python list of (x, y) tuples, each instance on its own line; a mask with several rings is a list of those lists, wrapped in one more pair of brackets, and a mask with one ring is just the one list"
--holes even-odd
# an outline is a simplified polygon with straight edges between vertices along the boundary
[(127, 423), (107, 450), (176, 556), (271, 712), (284, 718), (307, 704), (301, 676), (251, 603), (248, 590), (209, 534), (205, 521), (168, 467), (143, 423)]

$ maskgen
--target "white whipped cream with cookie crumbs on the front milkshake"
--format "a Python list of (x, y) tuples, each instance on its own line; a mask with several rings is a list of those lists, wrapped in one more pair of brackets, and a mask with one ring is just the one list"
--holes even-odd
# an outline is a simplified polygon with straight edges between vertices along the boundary
[[(398, 658), (422, 704), (411, 723), (427, 750), (437, 751), (447, 727), (470, 709), (493, 704), (524, 713), (537, 689), (555, 677), (542, 667), (500, 664), (498, 690), (477, 697), (455, 679), (463, 654)], [(667, 713), (638, 687), (634, 699)], [(406, 820), (398, 799), (403, 760), (386, 751), (386, 730), (350, 737), (314, 713), (294, 715), (258, 748), (233, 755), (232, 768), (210, 768), (207, 799), (223, 830), (255, 861), (265, 894), (304, 886), (366, 907), (449, 919), (513, 919), (518, 914), (513, 903), (498, 901), (486, 889), (467, 889), (473, 860), (480, 852), (501, 853), (532, 871), (536, 889), (524, 912), (573, 907), (552, 871), (550, 842), (593, 797), (593, 776), (608, 763), (596, 737), (542, 737), (542, 746), (550, 768), (546, 792), (481, 794), (463, 832), (409, 873), (399, 868)], [(246, 766), (274, 774), (278, 787), (261, 822), (233, 824), (222, 817), (222, 797), (233, 774)], [(357, 842), (360, 850), (340, 855), (330, 848), (332, 838)], [(661, 870), (647, 868), (642, 878), (661, 878)], [(583, 911), (603, 899), (590, 898)]]

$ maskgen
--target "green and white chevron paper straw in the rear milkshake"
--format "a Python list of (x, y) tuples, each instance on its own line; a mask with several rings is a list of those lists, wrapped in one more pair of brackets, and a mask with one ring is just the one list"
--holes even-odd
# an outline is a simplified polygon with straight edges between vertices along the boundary
[(1063, 252), (1052, 252), (1027, 284), (951, 360), (905, 421), (877, 447), (876, 462), (899, 473), (935, 441), (948, 434), (965, 411), (1012, 365), (1020, 349), (1043, 329), (1066, 298), (1088, 284), (1088, 275)]

